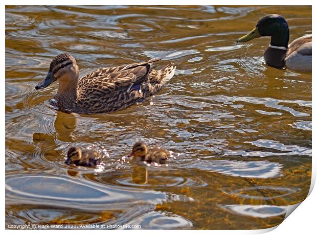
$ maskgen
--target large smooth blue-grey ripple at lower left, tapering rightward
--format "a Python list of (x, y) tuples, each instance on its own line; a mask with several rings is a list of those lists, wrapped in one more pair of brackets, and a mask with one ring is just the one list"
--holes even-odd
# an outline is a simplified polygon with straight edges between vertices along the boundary
[[(183, 200), (184, 196), (167, 195), (156, 191), (124, 190), (120, 187), (100, 185), (87, 180), (74, 181), (69, 177), (28, 175), (6, 179), (8, 204), (27, 203), (56, 205), (96, 211), (119, 209), (122, 205), (160, 204), (169, 200)], [(21, 200), (19, 200), (21, 198)], [(28, 199), (27, 199), (28, 198)], [(38, 199), (41, 198), (39, 202)], [(76, 204), (69, 203), (70, 201)], [(118, 203), (119, 201), (119, 203)]]

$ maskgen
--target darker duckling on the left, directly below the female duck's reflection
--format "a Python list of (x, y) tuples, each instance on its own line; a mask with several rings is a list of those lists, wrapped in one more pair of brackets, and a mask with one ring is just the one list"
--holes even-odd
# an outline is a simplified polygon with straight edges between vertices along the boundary
[(94, 167), (99, 165), (102, 155), (93, 149), (81, 149), (78, 146), (72, 146), (67, 152), (65, 164), (76, 165), (82, 167)]

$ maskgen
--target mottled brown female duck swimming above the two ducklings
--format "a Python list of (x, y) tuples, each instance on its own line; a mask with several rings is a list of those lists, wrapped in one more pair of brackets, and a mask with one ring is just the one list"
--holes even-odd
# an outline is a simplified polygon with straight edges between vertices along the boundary
[(78, 79), (79, 68), (70, 54), (56, 56), (46, 78), (35, 89), (45, 88), (58, 81), (58, 91), (50, 103), (76, 113), (107, 113), (144, 101), (159, 92), (174, 75), (176, 66), (168, 64), (152, 70), (147, 62), (100, 68)]

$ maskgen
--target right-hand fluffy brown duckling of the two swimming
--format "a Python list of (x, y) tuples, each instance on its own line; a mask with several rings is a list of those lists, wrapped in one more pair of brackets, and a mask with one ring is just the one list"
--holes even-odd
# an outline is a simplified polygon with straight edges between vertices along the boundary
[(149, 163), (156, 162), (164, 164), (166, 160), (170, 157), (170, 154), (169, 152), (167, 152), (167, 150), (160, 147), (148, 148), (148, 146), (144, 142), (139, 141), (134, 144), (129, 157), (139, 157), (142, 161), (146, 161)]

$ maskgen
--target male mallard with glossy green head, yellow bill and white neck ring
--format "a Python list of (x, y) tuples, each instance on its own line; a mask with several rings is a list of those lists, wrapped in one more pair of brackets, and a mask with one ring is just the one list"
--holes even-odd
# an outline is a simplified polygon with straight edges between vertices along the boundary
[(237, 42), (250, 41), (261, 36), (270, 36), (271, 42), (264, 53), (267, 65), (276, 68), (288, 67), (303, 72), (311, 72), (311, 34), (289, 41), (286, 20), (280, 15), (267, 15), (257, 26)]

